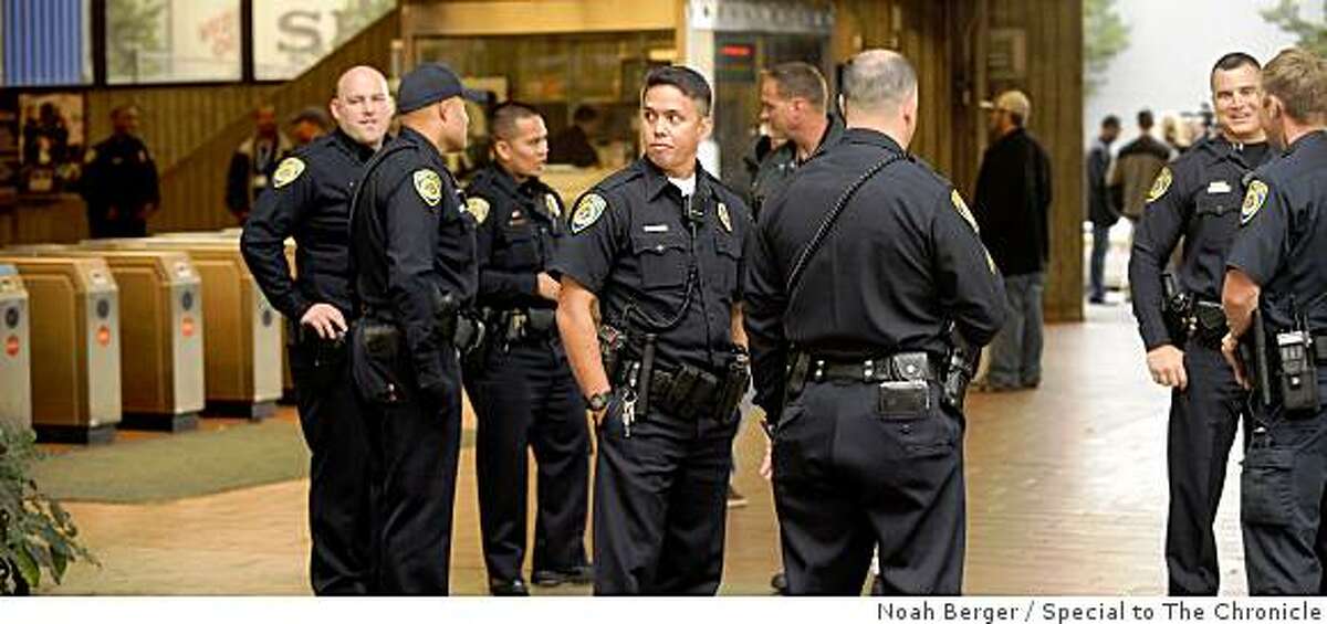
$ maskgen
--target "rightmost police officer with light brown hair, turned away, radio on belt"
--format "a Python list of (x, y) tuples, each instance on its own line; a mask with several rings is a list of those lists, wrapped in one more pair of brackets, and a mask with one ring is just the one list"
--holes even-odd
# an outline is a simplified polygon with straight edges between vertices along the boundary
[[(1222, 351), (1241, 382), (1253, 375), (1259, 384), (1239, 484), (1253, 595), (1327, 592), (1324, 83), (1327, 62), (1306, 50), (1283, 50), (1263, 68), (1262, 125), (1271, 143), (1289, 151), (1254, 172), (1226, 260), (1222, 301), (1230, 334)], [(1234, 355), (1243, 337), (1254, 348), (1266, 347), (1243, 363), (1270, 366), (1241, 366)]]

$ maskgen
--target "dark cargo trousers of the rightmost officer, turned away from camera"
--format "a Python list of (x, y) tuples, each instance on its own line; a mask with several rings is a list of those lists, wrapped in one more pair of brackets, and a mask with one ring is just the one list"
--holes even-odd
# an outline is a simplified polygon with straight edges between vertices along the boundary
[[(1327, 396), (1322, 382), (1319, 396)], [(1249, 594), (1324, 595), (1327, 408), (1273, 405), (1255, 420), (1239, 484)]]

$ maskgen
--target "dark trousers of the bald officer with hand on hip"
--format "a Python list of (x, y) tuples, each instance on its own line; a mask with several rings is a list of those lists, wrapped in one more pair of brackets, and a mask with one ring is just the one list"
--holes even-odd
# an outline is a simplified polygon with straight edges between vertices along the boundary
[(305, 339), (288, 350), (300, 428), (309, 446), (313, 594), (370, 594), (369, 436), (350, 384), (346, 348)]

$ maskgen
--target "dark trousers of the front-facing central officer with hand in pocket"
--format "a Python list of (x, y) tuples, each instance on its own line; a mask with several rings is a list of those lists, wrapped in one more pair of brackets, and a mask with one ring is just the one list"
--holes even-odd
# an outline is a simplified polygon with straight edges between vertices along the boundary
[(594, 594), (714, 595), (723, 576), (738, 417), (637, 413), (621, 395), (598, 427)]

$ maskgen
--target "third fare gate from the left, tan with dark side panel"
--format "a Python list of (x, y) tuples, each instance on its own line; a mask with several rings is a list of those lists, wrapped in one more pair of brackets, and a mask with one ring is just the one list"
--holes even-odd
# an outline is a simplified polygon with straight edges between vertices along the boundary
[(179, 432), (198, 428), (204, 404), (202, 281), (176, 250), (82, 249), (23, 245), (44, 257), (98, 257), (119, 287), (121, 428)]

